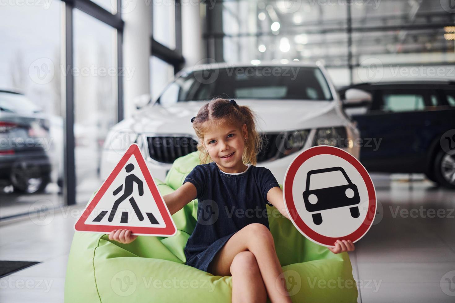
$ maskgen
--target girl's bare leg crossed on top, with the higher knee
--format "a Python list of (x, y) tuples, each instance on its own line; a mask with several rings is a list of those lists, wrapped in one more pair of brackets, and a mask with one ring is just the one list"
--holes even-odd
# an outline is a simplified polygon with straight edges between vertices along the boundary
[(232, 275), (230, 267), (233, 259), (244, 251), (254, 254), (270, 300), (273, 303), (292, 302), (284, 283), (276, 282), (283, 269), (275, 251), (272, 233), (263, 224), (249, 224), (235, 233), (213, 258), (209, 272), (220, 276)]

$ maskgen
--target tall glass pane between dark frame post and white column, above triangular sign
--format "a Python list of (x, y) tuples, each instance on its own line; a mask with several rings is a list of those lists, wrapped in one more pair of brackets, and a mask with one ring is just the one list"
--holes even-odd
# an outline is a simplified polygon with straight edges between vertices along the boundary
[(76, 202), (98, 189), (101, 149), (117, 121), (116, 30), (74, 10)]

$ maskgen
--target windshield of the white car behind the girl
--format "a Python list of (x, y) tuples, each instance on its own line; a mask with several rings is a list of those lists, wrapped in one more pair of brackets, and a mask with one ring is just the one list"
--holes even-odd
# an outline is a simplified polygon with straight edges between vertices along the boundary
[(329, 85), (317, 67), (227, 66), (182, 74), (163, 91), (162, 105), (181, 101), (227, 99), (332, 100)]

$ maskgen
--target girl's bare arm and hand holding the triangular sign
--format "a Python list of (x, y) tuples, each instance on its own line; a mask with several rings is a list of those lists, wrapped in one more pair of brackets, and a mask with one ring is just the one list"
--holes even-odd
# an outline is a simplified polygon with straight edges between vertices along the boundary
[[(177, 213), (183, 206), (190, 203), (192, 200), (196, 199), (197, 190), (196, 187), (190, 183), (186, 182), (180, 186), (175, 192), (163, 196), (164, 203), (167, 205), (167, 209), (171, 215)], [(115, 240), (120, 243), (128, 244), (136, 240), (137, 235), (132, 235), (131, 230), (125, 229), (115, 229), (109, 234), (110, 240)]]

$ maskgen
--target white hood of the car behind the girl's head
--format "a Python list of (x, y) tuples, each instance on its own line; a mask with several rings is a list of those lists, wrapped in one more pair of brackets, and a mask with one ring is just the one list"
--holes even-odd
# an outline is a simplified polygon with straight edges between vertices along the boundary
[[(194, 134), (191, 118), (208, 101), (177, 102), (172, 106), (155, 104), (136, 112), (131, 118), (115, 126), (114, 131), (131, 129), (141, 133)], [(250, 107), (258, 116), (260, 131), (284, 129), (312, 129), (346, 125), (348, 120), (341, 114), (337, 101), (307, 100), (248, 100), (238, 101)]]

